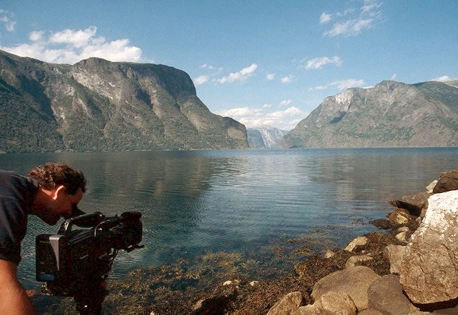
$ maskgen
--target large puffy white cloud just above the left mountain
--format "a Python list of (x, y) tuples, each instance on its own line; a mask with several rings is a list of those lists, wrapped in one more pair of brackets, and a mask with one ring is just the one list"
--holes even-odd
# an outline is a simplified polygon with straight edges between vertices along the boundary
[(133, 61), (142, 59), (142, 50), (129, 45), (128, 39), (106, 41), (96, 37), (97, 28), (85, 30), (62, 30), (46, 34), (34, 31), (29, 34), (32, 43), (21, 43), (1, 49), (21, 57), (32, 57), (50, 63), (76, 63), (82, 59), (99, 57), (110, 61)]

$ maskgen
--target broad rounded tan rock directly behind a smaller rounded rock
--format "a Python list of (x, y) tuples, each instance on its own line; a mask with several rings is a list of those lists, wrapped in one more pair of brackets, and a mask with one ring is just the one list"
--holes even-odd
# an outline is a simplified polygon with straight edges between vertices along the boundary
[(380, 278), (369, 267), (356, 266), (328, 274), (315, 283), (312, 298), (319, 301), (327, 292), (342, 292), (352, 298), (356, 308), (361, 311), (368, 308), (368, 287)]

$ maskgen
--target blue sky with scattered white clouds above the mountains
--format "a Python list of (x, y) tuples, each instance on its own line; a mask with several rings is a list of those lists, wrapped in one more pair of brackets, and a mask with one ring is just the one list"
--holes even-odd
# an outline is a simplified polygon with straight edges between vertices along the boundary
[(326, 96), (458, 77), (458, 1), (2, 1), (0, 49), (189, 74), (211, 112), (290, 130)]

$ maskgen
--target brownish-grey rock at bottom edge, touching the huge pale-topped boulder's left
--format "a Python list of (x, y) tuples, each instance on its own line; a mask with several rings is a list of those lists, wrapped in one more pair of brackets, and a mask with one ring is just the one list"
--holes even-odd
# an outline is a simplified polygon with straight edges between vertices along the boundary
[(402, 292), (399, 276), (382, 276), (368, 289), (369, 307), (391, 315), (405, 315), (418, 311)]

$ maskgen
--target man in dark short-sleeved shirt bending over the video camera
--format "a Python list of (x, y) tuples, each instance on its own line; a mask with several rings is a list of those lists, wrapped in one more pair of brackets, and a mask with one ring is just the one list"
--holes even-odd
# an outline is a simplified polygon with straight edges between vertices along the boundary
[(17, 279), (28, 214), (49, 225), (82, 214), (77, 205), (85, 190), (83, 173), (64, 163), (37, 166), (27, 176), (0, 171), (0, 314), (37, 314)]

